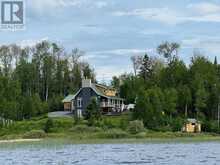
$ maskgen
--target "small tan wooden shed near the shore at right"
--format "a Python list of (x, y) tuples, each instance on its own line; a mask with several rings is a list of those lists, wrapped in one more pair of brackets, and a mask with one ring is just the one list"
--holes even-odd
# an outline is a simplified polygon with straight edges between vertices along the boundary
[(187, 119), (187, 121), (184, 123), (182, 131), (187, 133), (200, 133), (201, 123), (196, 119)]

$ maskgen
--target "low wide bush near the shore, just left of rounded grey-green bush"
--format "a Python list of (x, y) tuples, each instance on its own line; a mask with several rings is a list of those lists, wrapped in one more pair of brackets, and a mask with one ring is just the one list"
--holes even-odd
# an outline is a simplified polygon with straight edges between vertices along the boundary
[(121, 129), (109, 129), (106, 132), (99, 134), (100, 138), (120, 139), (128, 137), (127, 132)]

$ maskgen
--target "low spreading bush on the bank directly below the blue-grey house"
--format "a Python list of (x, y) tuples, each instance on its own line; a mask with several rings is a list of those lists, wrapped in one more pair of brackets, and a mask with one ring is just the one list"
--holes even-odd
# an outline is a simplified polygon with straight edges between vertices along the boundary
[(87, 125), (77, 125), (70, 129), (71, 132), (74, 133), (95, 133), (102, 131), (99, 127), (88, 127)]

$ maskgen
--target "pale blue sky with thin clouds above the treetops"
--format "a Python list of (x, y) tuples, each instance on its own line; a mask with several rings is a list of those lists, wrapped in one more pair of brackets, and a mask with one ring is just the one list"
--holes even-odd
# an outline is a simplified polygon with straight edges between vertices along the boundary
[(0, 44), (79, 48), (98, 80), (132, 72), (131, 56), (157, 56), (164, 41), (180, 43), (187, 64), (195, 51), (220, 60), (219, 0), (26, 0), (25, 19), (23, 31), (0, 31)]

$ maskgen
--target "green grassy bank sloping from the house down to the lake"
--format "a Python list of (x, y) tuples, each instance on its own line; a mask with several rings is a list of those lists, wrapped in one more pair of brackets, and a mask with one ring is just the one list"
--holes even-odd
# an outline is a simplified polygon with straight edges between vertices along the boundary
[[(102, 126), (89, 127), (86, 121), (75, 124), (71, 118), (54, 118), (48, 126), (47, 117), (34, 118), (15, 122), (8, 127), (1, 128), (0, 140), (43, 138), (70, 143), (220, 141), (220, 136), (214, 133), (187, 134), (181, 132), (155, 132), (146, 129), (138, 133), (131, 133), (126, 128), (129, 121), (128, 115), (108, 117), (103, 120)], [(48, 132), (45, 132), (45, 128), (48, 129)]]

